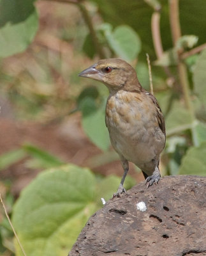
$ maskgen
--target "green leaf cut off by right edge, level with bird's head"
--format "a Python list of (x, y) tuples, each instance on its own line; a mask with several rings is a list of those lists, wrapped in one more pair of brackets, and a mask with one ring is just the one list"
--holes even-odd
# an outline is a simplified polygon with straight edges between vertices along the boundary
[(193, 73), (194, 90), (199, 99), (205, 104), (206, 102), (206, 49), (201, 52)]

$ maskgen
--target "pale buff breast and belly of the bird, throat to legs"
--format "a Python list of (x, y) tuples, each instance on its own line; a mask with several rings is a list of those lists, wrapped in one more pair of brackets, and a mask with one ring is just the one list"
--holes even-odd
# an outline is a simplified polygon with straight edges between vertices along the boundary
[(106, 107), (106, 125), (115, 150), (133, 163), (146, 163), (160, 154), (164, 143), (156, 141), (159, 124), (156, 109), (147, 95), (119, 91), (110, 95)]

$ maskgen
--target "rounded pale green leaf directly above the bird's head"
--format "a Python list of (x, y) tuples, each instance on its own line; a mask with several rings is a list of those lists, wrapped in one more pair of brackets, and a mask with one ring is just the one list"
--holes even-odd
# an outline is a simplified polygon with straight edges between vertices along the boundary
[(135, 60), (141, 51), (141, 41), (136, 32), (129, 26), (118, 26), (112, 32), (111, 27), (105, 27), (105, 37), (112, 50), (120, 58)]

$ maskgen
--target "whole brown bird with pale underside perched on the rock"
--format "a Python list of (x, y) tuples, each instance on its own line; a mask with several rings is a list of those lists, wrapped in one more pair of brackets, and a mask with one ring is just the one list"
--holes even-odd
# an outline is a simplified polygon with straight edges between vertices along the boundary
[(142, 170), (147, 188), (158, 184), (159, 156), (166, 140), (165, 120), (158, 101), (142, 87), (135, 69), (124, 60), (108, 58), (99, 60), (78, 76), (101, 81), (109, 91), (105, 122), (124, 170), (113, 198), (126, 192), (123, 185), (128, 162)]

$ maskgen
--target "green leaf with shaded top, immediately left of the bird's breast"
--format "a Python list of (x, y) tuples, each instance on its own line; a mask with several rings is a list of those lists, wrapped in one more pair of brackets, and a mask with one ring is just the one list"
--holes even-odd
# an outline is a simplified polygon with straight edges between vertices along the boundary
[(105, 125), (105, 104), (96, 107), (94, 99), (87, 97), (80, 104), (82, 126), (90, 140), (102, 150), (110, 146), (110, 139)]

